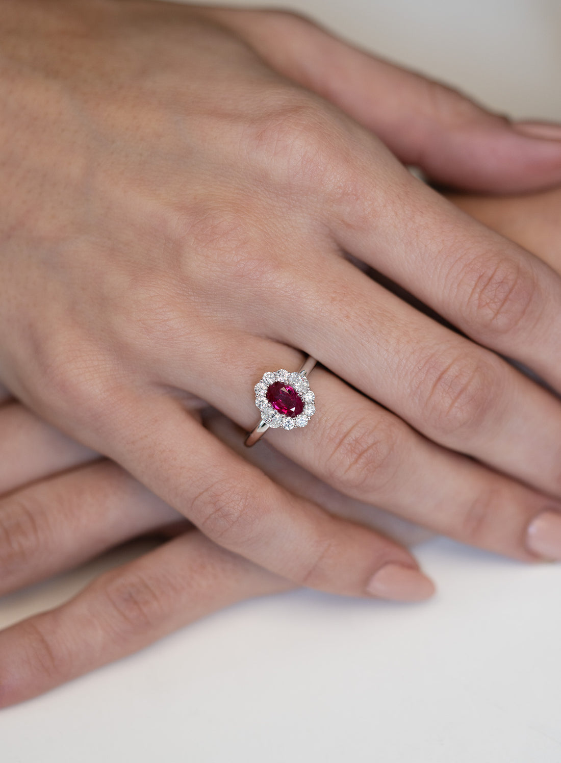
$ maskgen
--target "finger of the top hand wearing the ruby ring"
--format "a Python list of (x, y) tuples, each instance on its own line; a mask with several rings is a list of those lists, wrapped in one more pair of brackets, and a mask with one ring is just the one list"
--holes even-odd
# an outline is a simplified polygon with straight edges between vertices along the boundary
[[(256, 423), (260, 375), (298, 369), (302, 360), (294, 349), (245, 335), (224, 338), (224, 356), (227, 374), (209, 365), (205, 395), (245, 429)], [(308, 426), (266, 435), (285, 455), (337, 490), (435, 532), (526, 561), (561, 559), (558, 501), (427, 440), (324, 369), (312, 372), (310, 384), (318, 413)]]

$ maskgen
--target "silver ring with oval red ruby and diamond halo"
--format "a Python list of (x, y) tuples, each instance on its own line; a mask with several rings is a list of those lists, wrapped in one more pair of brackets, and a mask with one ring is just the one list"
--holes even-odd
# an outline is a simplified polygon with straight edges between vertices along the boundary
[(308, 356), (296, 373), (285, 369), (267, 371), (255, 385), (255, 404), (261, 412), (260, 423), (250, 432), (246, 445), (254, 445), (269, 427), (286, 430), (305, 427), (315, 413), (314, 393), (308, 374), (316, 361)]

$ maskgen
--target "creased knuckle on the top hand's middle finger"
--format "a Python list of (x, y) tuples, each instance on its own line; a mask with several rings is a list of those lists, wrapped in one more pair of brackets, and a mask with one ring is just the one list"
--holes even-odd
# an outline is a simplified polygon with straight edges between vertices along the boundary
[(466, 351), (430, 356), (415, 373), (413, 385), (430, 427), (441, 437), (476, 431), (498, 398), (495, 365)]

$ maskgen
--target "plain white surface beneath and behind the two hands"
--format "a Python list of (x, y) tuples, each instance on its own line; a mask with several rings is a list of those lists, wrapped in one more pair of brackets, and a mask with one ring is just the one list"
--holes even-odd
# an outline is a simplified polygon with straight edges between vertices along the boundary
[[(499, 111), (561, 120), (559, 0), (292, 7)], [(5, 597), (0, 627), (134, 552)], [(428, 604), (298, 591), (232, 607), (2, 711), (0, 763), (559, 763), (561, 568), (443, 539), (418, 557), (439, 584)]]

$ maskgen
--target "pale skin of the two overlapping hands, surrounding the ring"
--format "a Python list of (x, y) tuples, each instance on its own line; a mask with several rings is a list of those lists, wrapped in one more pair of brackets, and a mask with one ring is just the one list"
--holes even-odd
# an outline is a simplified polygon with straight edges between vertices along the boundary
[[(202, 401), (252, 427), (255, 381), (303, 353), (324, 365), (311, 378), (321, 410), (267, 437), (316, 485), (516, 559), (552, 556), (531, 529), (559, 533), (561, 405), (493, 351), (559, 390), (561, 279), (413, 179), (382, 140), (440, 182), (487, 192), (561, 182), (561, 140), (289, 14), (11, 0), (2, 13), (0, 378), (34, 411), (2, 415), (37, 454), (4, 476), (2, 584), (182, 517), (202, 532), (5, 631), (0, 703), (240, 597), (294, 584), (431, 594), (404, 546), (202, 427)], [(110, 462), (24, 487), (97, 452), (152, 492)]]

